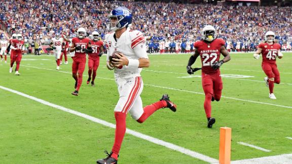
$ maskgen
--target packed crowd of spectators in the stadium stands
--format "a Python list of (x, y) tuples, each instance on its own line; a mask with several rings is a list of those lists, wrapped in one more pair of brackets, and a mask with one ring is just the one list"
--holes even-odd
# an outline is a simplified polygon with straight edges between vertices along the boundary
[[(20, 32), (28, 42), (40, 39), (42, 44), (49, 43), (55, 32), (68, 36), (78, 27), (86, 28), (88, 34), (97, 30), (101, 38), (104, 38), (108, 32), (105, 24), (107, 15), (117, 6), (125, 6), (132, 10), (134, 18), (131, 28), (142, 31), (149, 38), (149, 44), (158, 43), (160, 49), (161, 44), (165, 42), (174, 42), (180, 51), (186, 49), (188, 42), (193, 43), (200, 38), (200, 30), (207, 24), (213, 25), (219, 37), (228, 40), (234, 51), (238, 50), (236, 46), (239, 44), (240, 50), (246, 46), (248, 50), (255, 49), (268, 30), (275, 32), (281, 45), (292, 44), (292, 13), (288, 7), (129, 3), (103, 0), (12, 0), (0, 4), (1, 29), (6, 29), (9, 34)], [(154, 52), (155, 48), (151, 51)]]

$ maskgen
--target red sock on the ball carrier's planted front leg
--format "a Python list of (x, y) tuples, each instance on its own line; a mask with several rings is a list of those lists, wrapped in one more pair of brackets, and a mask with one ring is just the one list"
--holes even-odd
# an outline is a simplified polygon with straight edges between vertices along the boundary
[(121, 145), (126, 133), (126, 113), (115, 112), (116, 118), (116, 134), (115, 134), (115, 143), (113, 146), (112, 157), (118, 159), (118, 154), (121, 149)]

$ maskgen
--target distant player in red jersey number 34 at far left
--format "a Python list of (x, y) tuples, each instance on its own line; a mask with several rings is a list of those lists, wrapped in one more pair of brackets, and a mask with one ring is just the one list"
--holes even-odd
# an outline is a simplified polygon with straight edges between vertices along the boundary
[(19, 33), (17, 34), (17, 39), (13, 39), (11, 42), (11, 61), (10, 61), (10, 69), (9, 72), (12, 72), (13, 64), (16, 61), (16, 75), (20, 75), (18, 72), (20, 61), (22, 58), (22, 52), (24, 50), (24, 41), (22, 40), (22, 35)]

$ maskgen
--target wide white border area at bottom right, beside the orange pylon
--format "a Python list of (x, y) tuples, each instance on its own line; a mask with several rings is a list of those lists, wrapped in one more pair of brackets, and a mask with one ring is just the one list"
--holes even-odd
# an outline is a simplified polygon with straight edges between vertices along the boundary
[(265, 156), (260, 158), (242, 159), (231, 162), (232, 164), (291, 164), (292, 154)]

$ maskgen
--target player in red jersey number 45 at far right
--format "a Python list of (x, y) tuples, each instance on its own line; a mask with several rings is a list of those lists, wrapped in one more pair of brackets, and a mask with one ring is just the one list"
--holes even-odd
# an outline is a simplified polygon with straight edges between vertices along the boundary
[(261, 43), (257, 52), (253, 54), (255, 59), (260, 59), (260, 54), (262, 53), (263, 62), (262, 68), (268, 77), (265, 77), (264, 80), (266, 82), (267, 87), (270, 89), (269, 98), (276, 99), (274, 95), (274, 83), (280, 84), (280, 73), (276, 64), (276, 57), (279, 59), (283, 57), (280, 49), (281, 46), (274, 42), (275, 33), (272, 31), (268, 31), (265, 34), (265, 43)]

